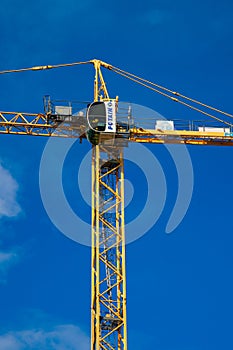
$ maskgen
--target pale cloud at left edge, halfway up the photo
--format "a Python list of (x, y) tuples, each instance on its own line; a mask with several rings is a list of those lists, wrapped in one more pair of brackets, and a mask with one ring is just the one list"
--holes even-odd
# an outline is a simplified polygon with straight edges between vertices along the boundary
[(0, 164), (0, 217), (14, 217), (20, 213), (21, 208), (16, 199), (17, 190), (17, 182)]

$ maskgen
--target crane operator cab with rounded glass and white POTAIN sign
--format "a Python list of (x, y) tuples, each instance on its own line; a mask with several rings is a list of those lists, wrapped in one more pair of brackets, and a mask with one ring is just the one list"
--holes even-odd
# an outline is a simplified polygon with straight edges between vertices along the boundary
[(118, 116), (116, 100), (93, 102), (87, 106), (87, 139), (93, 144), (114, 143), (115, 139), (127, 142), (130, 122)]

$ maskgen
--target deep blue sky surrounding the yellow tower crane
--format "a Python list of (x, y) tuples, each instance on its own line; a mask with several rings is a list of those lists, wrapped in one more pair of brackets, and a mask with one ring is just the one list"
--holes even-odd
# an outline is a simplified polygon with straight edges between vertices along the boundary
[[(232, 112), (230, 1), (2, 0), (1, 6), (0, 70), (99, 58)], [(111, 95), (122, 101), (153, 108), (167, 119), (200, 118), (113, 73), (105, 75)], [(91, 66), (0, 80), (3, 111), (42, 112), (45, 94), (66, 100), (93, 95)], [(0, 135), (4, 350), (89, 348), (90, 249), (62, 235), (44, 210), (39, 165), (46, 142)], [(90, 208), (81, 202), (77, 169), (89, 148), (87, 142), (75, 144), (64, 168), (67, 198), (86, 221)], [(188, 148), (194, 169), (191, 205), (166, 235), (177, 175), (164, 147), (148, 148), (163, 167), (168, 194), (157, 224), (127, 246), (129, 349), (232, 349), (232, 150)], [(145, 199), (145, 184), (133, 171), (129, 164), (126, 175), (135, 192), (129, 217)]]

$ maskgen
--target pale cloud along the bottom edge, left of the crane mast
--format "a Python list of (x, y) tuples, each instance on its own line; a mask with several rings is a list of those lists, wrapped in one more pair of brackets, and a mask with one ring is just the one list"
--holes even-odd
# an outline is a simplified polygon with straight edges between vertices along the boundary
[(89, 338), (72, 324), (58, 325), (50, 330), (31, 329), (0, 335), (2, 350), (89, 350)]

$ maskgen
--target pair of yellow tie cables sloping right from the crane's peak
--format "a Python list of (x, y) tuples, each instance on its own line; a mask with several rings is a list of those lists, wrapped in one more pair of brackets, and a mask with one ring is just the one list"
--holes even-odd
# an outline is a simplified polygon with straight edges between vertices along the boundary
[[(188, 100), (188, 101), (191, 101), (191, 102), (193, 102), (193, 103), (196, 103), (196, 104), (198, 104), (198, 105), (201, 105), (202, 107), (208, 108), (208, 109), (213, 110), (213, 111), (215, 111), (215, 112), (221, 113), (221, 114), (223, 114), (223, 115), (225, 115), (225, 116), (227, 116), (227, 117), (233, 118), (233, 115), (232, 115), (232, 114), (226, 113), (226, 112), (224, 112), (224, 111), (221, 111), (220, 109), (217, 109), (217, 108), (215, 108), (215, 107), (209, 106), (209, 105), (207, 105), (207, 104), (204, 104), (204, 103), (202, 103), (202, 102), (199, 102), (199, 101), (197, 101), (197, 100), (195, 100), (195, 99), (192, 99), (192, 98), (190, 98), (190, 97), (187, 97), (187, 96), (185, 96), (185, 95), (182, 95), (182, 94), (180, 94), (179, 92), (172, 91), (172, 90), (170, 90), (170, 89), (168, 89), (168, 88), (165, 88), (165, 87), (163, 87), (163, 86), (161, 86), (161, 85), (158, 85), (158, 84), (156, 84), (156, 83), (153, 83), (153, 82), (151, 82), (151, 81), (149, 81), (149, 80), (143, 79), (143, 78), (141, 78), (141, 77), (139, 77), (139, 76), (137, 76), (137, 75), (135, 75), (135, 74), (126, 72), (126, 71), (124, 71), (124, 70), (122, 70), (122, 69), (120, 69), (120, 68), (111, 66), (111, 70), (112, 70), (113, 72), (119, 74), (119, 75), (122, 75), (123, 77), (125, 77), (125, 78), (127, 78), (127, 79), (130, 79), (130, 80), (132, 80), (132, 81), (134, 81), (134, 82), (136, 82), (136, 83), (138, 83), (138, 84), (140, 84), (140, 85), (142, 85), (142, 86), (145, 86), (146, 88), (148, 88), (148, 89), (150, 89), (150, 90), (152, 90), (152, 91), (155, 91), (156, 93), (158, 93), (158, 94), (160, 94), (160, 95), (163, 95), (163, 96), (165, 96), (165, 97), (171, 99), (171, 100), (174, 101), (174, 102), (178, 102), (178, 103), (180, 103), (180, 104), (183, 104), (184, 106), (189, 107), (189, 108), (191, 108), (191, 109), (193, 109), (193, 110), (195, 110), (195, 111), (197, 111), (197, 112), (200, 112), (200, 113), (202, 113), (202, 114), (204, 114), (204, 115), (207, 115), (208, 117), (211, 117), (211, 118), (213, 118), (213, 119), (215, 119), (215, 120), (217, 120), (217, 121), (219, 121), (219, 122), (221, 122), (221, 123), (227, 124), (227, 125), (229, 125), (229, 126), (233, 126), (231, 123), (229, 123), (229, 122), (227, 122), (227, 121), (224, 121), (224, 120), (222, 120), (222, 119), (220, 119), (220, 118), (218, 118), (218, 117), (215, 117), (214, 115), (212, 115), (212, 114), (210, 114), (210, 113), (207, 113), (207, 112), (205, 112), (205, 111), (203, 111), (203, 110), (201, 110), (201, 109), (199, 109), (199, 108), (197, 108), (197, 107), (194, 107), (194, 106), (192, 106), (192, 105), (190, 105), (190, 104), (188, 104), (188, 103), (186, 103), (186, 102), (184, 102), (184, 101), (182, 101), (182, 100), (179, 100), (178, 98), (175, 98), (175, 97), (173, 97), (173, 96), (170, 96), (170, 95), (167, 94), (166, 92), (169, 92), (169, 93), (171, 93), (171, 94), (173, 94), (173, 95), (179, 96), (179, 97), (181, 97), (181, 98), (183, 98), (183, 99), (186, 99), (186, 100)], [(162, 92), (162, 91), (160, 91), (160, 90), (158, 90), (158, 89), (155, 89), (155, 88), (153, 88), (152, 86), (149, 86), (148, 84), (149, 84), (149, 85), (152, 85), (152, 86), (155, 86), (155, 87), (157, 87), (158, 89), (161, 89), (161, 90), (166, 91), (166, 92)]]

